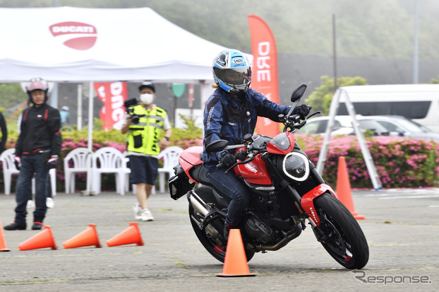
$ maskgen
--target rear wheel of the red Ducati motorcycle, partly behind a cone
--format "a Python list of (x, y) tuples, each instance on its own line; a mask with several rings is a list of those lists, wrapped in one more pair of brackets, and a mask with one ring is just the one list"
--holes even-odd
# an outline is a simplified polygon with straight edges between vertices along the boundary
[[(197, 193), (197, 195), (201, 197), (204, 200), (204, 202), (206, 203), (212, 202), (211, 199), (213, 193), (211, 188), (202, 186), (198, 188), (198, 190), (195, 193)], [(226, 258), (226, 245), (219, 245), (210, 236), (210, 234), (209, 235), (207, 234), (205, 230), (200, 230), (200, 228), (198, 228), (198, 224), (195, 223), (195, 221), (193, 221), (192, 216), (196, 218), (199, 217), (200, 215), (189, 204), (189, 219), (191, 220), (193, 232), (195, 232), (195, 235), (198, 237), (198, 240), (204, 246), (204, 248), (209, 252), (209, 254), (211, 254), (214, 258), (219, 260), (221, 263), (224, 263), (224, 259)], [(222, 224), (220, 224), (220, 226), (224, 226), (224, 221), (222, 221)], [(223, 230), (218, 230), (218, 231), (222, 232)], [(246, 249), (244, 250), (246, 252), (247, 262), (249, 262), (253, 258), (254, 252), (251, 250), (246, 250)]]

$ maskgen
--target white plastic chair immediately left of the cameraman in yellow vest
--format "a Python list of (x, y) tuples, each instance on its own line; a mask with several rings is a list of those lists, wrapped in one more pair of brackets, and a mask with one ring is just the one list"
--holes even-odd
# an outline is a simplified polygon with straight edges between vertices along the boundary
[[(126, 167), (126, 160), (121, 151), (112, 147), (102, 147), (97, 149), (92, 155), (92, 191), (95, 194), (101, 192), (101, 174), (115, 173), (116, 191), (121, 195), (125, 195), (126, 174), (130, 169)], [(99, 166), (98, 166), (99, 165)]]

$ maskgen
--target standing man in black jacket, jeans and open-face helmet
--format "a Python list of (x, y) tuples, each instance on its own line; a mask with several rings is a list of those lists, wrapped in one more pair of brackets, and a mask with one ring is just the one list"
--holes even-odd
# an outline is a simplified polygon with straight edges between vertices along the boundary
[(31, 193), (31, 181), (36, 174), (34, 223), (32, 230), (43, 228), (46, 206), (46, 188), (49, 169), (58, 164), (62, 137), (60, 112), (46, 104), (47, 82), (34, 78), (27, 84), (27, 95), (32, 106), (23, 112), (21, 132), (15, 145), (15, 164), (20, 169), (17, 182), (15, 221), (5, 230), (25, 230), (26, 204)]

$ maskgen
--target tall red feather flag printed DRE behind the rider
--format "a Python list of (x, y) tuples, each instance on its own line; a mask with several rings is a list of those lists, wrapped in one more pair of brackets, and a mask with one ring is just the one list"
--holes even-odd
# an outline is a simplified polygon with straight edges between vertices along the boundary
[[(259, 16), (248, 15), (252, 43), (252, 88), (270, 101), (279, 103), (276, 40), (270, 27)], [(258, 117), (256, 132), (269, 136), (279, 134), (278, 123)]]

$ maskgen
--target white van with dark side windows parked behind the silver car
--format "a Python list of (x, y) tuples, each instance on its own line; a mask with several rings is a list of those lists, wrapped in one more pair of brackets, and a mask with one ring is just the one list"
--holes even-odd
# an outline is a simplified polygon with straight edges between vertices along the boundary
[(392, 84), (344, 86), (340, 95), (340, 115), (348, 114), (348, 95), (355, 112), (364, 116), (399, 115), (439, 133), (439, 84)]

